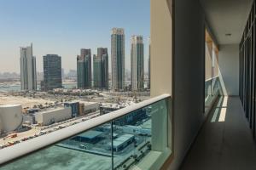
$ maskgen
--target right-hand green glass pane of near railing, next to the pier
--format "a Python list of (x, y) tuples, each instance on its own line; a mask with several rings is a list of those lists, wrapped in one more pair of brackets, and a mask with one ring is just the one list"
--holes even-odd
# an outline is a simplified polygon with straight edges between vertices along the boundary
[(148, 105), (113, 122), (114, 169), (148, 169), (151, 162), (144, 160), (146, 156), (152, 162), (159, 159), (167, 148), (166, 102)]

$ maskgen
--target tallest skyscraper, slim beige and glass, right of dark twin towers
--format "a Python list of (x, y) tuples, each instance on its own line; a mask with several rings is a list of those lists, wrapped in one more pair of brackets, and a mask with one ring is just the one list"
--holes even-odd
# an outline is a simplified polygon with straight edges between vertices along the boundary
[(125, 31), (113, 28), (111, 35), (112, 86), (114, 91), (125, 88)]

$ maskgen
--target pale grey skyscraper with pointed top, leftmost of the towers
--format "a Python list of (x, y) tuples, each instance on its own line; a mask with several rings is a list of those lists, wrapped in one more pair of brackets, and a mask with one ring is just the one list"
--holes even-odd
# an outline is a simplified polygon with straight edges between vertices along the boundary
[(37, 65), (30, 47), (20, 48), (20, 84), (21, 90), (37, 90)]

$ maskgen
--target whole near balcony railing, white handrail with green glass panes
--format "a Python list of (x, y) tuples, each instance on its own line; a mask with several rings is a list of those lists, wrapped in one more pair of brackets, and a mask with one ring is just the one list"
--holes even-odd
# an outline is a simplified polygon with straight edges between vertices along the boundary
[(160, 169), (172, 150), (170, 95), (0, 150), (1, 170)]

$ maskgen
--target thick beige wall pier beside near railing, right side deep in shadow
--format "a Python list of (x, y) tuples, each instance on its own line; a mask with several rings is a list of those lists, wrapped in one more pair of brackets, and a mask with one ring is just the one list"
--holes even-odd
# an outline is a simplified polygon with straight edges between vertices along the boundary
[(174, 156), (162, 168), (178, 169), (206, 118), (205, 25), (199, 1), (151, 0), (151, 41), (151, 95), (168, 93), (173, 99), (169, 138), (174, 137)]

